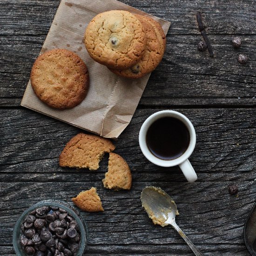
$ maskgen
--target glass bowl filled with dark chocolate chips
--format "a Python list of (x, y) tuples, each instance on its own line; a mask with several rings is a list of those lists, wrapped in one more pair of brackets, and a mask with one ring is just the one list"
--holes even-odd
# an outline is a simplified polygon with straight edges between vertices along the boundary
[(18, 256), (81, 256), (87, 226), (80, 212), (67, 202), (41, 201), (25, 210), (13, 230)]

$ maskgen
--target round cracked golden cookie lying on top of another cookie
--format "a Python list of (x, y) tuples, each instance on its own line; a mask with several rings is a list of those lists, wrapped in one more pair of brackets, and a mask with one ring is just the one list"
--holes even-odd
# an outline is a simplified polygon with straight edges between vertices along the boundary
[(141, 59), (145, 46), (141, 22), (127, 11), (100, 13), (85, 31), (85, 47), (90, 56), (110, 68), (133, 66)]

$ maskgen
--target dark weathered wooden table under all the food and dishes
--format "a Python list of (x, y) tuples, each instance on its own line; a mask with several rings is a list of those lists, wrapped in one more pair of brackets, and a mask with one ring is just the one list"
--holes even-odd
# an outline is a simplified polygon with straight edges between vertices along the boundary
[[(164, 58), (151, 74), (116, 152), (131, 167), (130, 191), (104, 189), (107, 155), (96, 172), (60, 168), (58, 156), (80, 130), (20, 107), (30, 69), (46, 38), (59, 0), (2, 0), (0, 5), (0, 255), (14, 255), (13, 226), (23, 210), (42, 199), (71, 198), (97, 187), (103, 213), (84, 213), (88, 255), (193, 255), (170, 227), (154, 226), (141, 208), (141, 190), (161, 187), (172, 195), (176, 222), (209, 256), (249, 256), (243, 225), (256, 201), (256, 13), (252, 0), (121, 0), (172, 22)], [(196, 12), (203, 13), (215, 52), (198, 52)], [(238, 50), (234, 35), (242, 37)], [(237, 62), (240, 53), (249, 62)], [(142, 155), (142, 122), (161, 109), (187, 115), (197, 144), (190, 157), (198, 180), (179, 168), (160, 168)], [(238, 196), (228, 185), (236, 182)]]

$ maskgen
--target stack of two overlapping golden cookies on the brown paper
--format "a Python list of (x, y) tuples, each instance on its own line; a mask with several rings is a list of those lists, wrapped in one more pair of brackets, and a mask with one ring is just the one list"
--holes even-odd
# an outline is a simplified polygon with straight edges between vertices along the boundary
[(85, 32), (85, 47), (94, 61), (127, 78), (152, 72), (162, 60), (165, 45), (157, 21), (127, 11), (98, 14)]

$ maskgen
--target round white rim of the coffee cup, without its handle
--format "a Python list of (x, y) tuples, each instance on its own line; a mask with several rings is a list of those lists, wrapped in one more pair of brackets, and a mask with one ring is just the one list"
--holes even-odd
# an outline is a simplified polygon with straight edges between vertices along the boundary
[[(146, 135), (147, 135), (147, 131), (148, 131), (148, 128), (150, 127), (150, 125), (153, 122), (155, 122), (156, 120), (158, 120), (162, 117), (167, 117), (167, 116), (175, 117), (175, 118), (179, 119), (180, 121), (182, 121), (188, 128), (189, 137), (190, 137), (189, 147), (187, 148), (187, 150), (181, 156), (179, 156), (175, 159), (172, 159), (172, 160), (163, 160), (163, 159), (160, 159), (160, 158), (156, 157), (155, 155), (153, 155), (153, 153), (151, 153), (150, 150), (148, 149), (147, 142), (146, 142)], [(196, 135), (195, 135), (195, 128), (194, 128), (193, 124), (185, 115), (181, 114), (180, 112), (174, 111), (174, 110), (162, 110), (162, 111), (158, 111), (158, 112), (154, 113), (153, 115), (150, 115), (142, 124), (140, 133), (139, 133), (139, 144), (140, 144), (140, 148), (141, 148), (143, 155), (150, 162), (152, 162), (158, 166), (162, 166), (162, 167), (171, 167), (171, 166), (179, 165), (182, 162), (186, 161), (189, 158), (189, 156), (192, 154), (192, 152), (194, 151), (195, 142), (196, 142)]]

